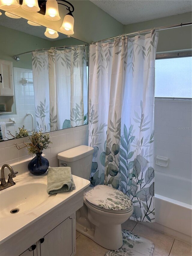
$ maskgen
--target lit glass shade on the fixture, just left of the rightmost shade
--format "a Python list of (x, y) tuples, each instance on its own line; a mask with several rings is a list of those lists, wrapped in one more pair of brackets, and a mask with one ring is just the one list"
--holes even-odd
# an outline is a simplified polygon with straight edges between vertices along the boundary
[(56, 0), (47, 0), (46, 13), (45, 13), (44, 17), (47, 20), (60, 20), (61, 19), (61, 17), (59, 16), (58, 3)]

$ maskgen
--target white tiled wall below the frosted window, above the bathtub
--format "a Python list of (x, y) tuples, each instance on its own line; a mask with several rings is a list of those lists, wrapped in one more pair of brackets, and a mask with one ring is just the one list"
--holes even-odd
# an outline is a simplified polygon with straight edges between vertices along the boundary
[(155, 99), (155, 156), (169, 158), (156, 171), (191, 179), (191, 110), (191, 100)]

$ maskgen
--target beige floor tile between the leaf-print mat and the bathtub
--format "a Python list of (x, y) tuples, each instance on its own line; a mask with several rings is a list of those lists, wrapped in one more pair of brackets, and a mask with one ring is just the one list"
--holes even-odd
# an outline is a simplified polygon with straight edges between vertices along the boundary
[(168, 256), (173, 245), (174, 238), (157, 230), (138, 223), (133, 231), (134, 234), (143, 236), (155, 244), (153, 256)]

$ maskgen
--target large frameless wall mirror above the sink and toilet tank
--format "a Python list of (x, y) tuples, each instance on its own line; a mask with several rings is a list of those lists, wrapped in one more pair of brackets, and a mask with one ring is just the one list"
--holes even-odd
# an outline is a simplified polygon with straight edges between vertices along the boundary
[(30, 135), (40, 129), (49, 132), (87, 124), (88, 44), (1, 13), (3, 140), (19, 137), (23, 125)]

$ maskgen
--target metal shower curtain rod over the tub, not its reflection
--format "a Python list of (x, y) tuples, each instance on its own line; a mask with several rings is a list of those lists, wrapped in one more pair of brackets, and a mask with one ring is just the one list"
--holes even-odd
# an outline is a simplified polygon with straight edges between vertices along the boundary
[[(170, 25), (170, 26), (157, 27), (157, 28), (155, 28), (155, 31), (164, 30), (164, 29), (179, 28), (179, 27), (182, 27), (182, 26), (189, 26), (189, 25), (192, 25), (192, 23), (191, 22), (189, 22), (189, 23), (179, 23), (179, 24)], [(142, 34), (142, 33), (150, 32), (150, 31), (151, 31), (151, 29), (144, 29), (144, 30), (139, 30), (137, 32), (132, 32), (132, 33), (128, 33), (128, 34), (125, 33), (125, 34), (122, 34), (122, 35), (119, 35), (119, 36), (116, 36), (116, 37), (102, 39), (102, 40), (99, 40), (97, 42), (93, 42), (92, 44), (96, 44), (98, 42), (104, 42), (104, 41), (112, 40), (112, 39), (115, 39), (115, 38), (118, 38), (118, 37), (122, 37), (122, 36), (137, 35), (139, 33)]]

